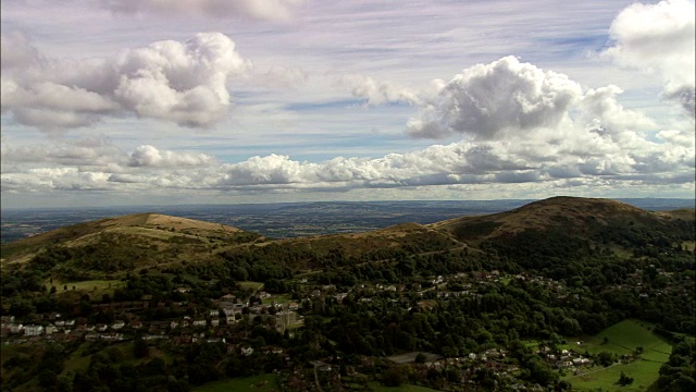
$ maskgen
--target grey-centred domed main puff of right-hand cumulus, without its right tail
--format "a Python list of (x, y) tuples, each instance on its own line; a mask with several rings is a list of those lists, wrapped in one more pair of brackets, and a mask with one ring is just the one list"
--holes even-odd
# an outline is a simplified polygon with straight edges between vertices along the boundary
[(554, 128), (581, 96), (581, 86), (566, 75), (506, 57), (456, 75), (409, 121), (408, 133), (435, 138), (464, 133), (486, 140)]

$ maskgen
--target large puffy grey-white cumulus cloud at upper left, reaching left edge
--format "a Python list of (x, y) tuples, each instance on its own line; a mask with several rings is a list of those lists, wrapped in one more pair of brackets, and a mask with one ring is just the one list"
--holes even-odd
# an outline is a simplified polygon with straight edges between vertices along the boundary
[(226, 114), (227, 83), (251, 66), (220, 33), (158, 41), (99, 61), (47, 59), (11, 34), (3, 35), (2, 57), (3, 112), (42, 130), (125, 114), (211, 126)]

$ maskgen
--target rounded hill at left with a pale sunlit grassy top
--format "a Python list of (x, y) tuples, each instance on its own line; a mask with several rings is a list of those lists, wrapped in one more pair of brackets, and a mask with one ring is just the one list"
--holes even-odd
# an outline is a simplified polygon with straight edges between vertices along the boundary
[(259, 234), (219, 223), (136, 213), (3, 244), (2, 268), (33, 261), (45, 264), (47, 269), (114, 273), (173, 261), (210, 259), (214, 248), (259, 237)]

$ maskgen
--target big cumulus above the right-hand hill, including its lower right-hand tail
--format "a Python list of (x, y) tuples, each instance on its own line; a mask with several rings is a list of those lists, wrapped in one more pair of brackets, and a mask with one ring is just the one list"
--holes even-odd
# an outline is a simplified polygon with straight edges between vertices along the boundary
[(506, 57), (465, 69), (424, 98), (407, 133), (423, 138), (462, 134), (482, 142), (574, 137), (584, 131), (620, 138), (654, 128), (652, 120), (618, 102), (622, 93), (613, 85), (585, 88), (567, 75)]

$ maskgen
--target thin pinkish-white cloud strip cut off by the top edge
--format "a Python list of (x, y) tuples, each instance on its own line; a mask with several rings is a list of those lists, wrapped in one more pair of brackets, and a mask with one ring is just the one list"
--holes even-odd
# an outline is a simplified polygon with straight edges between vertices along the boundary
[(198, 14), (287, 22), (304, 0), (100, 0), (117, 13)]

